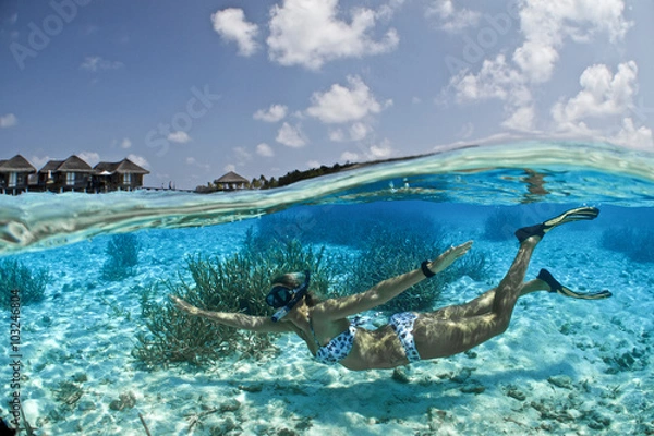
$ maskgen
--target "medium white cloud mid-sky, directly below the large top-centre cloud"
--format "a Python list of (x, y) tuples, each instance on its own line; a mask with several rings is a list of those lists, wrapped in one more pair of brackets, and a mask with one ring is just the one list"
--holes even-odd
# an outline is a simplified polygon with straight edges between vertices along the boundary
[(324, 123), (344, 123), (379, 113), (392, 104), (388, 100), (383, 107), (359, 76), (348, 76), (348, 83), (350, 87), (334, 84), (325, 93), (314, 93), (306, 113)]

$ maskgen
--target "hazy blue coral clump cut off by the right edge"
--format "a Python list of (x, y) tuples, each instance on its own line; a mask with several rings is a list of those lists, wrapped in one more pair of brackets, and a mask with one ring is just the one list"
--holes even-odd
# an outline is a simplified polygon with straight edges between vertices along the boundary
[(625, 254), (633, 262), (654, 263), (654, 231), (620, 227), (606, 229), (600, 239), (601, 245), (613, 252)]

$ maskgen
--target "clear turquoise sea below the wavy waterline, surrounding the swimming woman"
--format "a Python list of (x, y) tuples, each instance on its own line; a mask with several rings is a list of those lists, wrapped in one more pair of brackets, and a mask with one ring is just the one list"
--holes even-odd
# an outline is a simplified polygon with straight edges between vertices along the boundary
[[(375, 330), (495, 288), (519, 228), (570, 208), (508, 329), (387, 370), (317, 362), (293, 334), (180, 311), (269, 317), (271, 279), (363, 292), (452, 245), (470, 251), (352, 319)], [(609, 144), (469, 146), (268, 191), (0, 197), (0, 416), (34, 435), (654, 434), (654, 155)]]

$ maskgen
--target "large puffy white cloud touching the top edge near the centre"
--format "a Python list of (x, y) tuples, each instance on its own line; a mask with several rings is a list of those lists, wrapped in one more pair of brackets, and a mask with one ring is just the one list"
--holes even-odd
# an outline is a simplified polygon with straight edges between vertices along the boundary
[(282, 65), (318, 70), (325, 62), (361, 58), (397, 48), (397, 32), (389, 29), (383, 39), (371, 35), (376, 26), (374, 11), (358, 8), (351, 21), (337, 15), (338, 0), (284, 0), (270, 11), (267, 43), (270, 59)]

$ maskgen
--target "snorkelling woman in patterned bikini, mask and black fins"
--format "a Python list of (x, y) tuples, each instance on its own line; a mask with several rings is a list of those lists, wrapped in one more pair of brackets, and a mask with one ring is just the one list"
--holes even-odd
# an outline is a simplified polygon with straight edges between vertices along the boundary
[(465, 304), (427, 313), (395, 314), (387, 325), (375, 330), (355, 327), (347, 317), (382, 305), (443, 271), (470, 250), (472, 241), (450, 247), (434, 261), (423, 262), (415, 270), (349, 296), (317, 301), (310, 291), (308, 271), (277, 277), (266, 298), (277, 310), (272, 318), (203, 311), (177, 296), (170, 298), (181, 311), (226, 326), (259, 332), (294, 332), (322, 363), (340, 363), (353, 371), (392, 368), (457, 354), (502, 334), (509, 326), (518, 298), (531, 292), (549, 291), (588, 300), (610, 296), (608, 291), (573, 292), (545, 269), (536, 279), (524, 281), (532, 253), (545, 233), (566, 222), (594, 219), (598, 213), (594, 207), (576, 208), (543, 223), (519, 229), (516, 237), (520, 249), (497, 288)]

